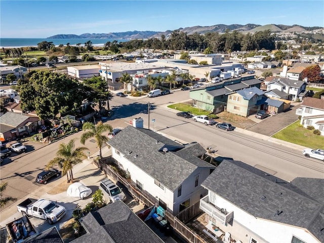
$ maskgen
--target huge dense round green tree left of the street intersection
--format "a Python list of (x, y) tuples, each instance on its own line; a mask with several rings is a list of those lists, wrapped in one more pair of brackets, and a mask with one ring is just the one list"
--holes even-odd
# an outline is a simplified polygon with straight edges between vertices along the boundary
[(32, 71), (19, 85), (21, 109), (35, 111), (41, 119), (77, 110), (84, 97), (84, 85), (65, 74)]

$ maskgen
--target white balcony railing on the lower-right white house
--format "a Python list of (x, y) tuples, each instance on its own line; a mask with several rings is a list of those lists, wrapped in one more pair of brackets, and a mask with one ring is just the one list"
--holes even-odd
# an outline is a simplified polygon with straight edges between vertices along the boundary
[(225, 209), (220, 209), (212, 204), (209, 201), (208, 195), (200, 199), (200, 209), (223, 225), (227, 224), (233, 218), (233, 212), (227, 212)]

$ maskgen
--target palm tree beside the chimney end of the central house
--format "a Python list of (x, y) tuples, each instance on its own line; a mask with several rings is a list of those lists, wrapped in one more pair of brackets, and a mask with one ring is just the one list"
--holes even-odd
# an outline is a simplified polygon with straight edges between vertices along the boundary
[(81, 135), (80, 142), (85, 144), (89, 138), (94, 137), (99, 148), (99, 157), (101, 158), (101, 147), (109, 140), (109, 138), (102, 135), (102, 133), (106, 131), (111, 132), (112, 127), (109, 124), (103, 124), (102, 121), (99, 121), (97, 125), (91, 122), (85, 122), (82, 129), (85, 130), (85, 132)]

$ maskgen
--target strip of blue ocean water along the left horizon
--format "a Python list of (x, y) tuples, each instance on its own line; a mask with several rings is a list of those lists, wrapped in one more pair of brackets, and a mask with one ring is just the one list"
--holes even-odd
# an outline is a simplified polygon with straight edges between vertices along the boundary
[(37, 46), (38, 43), (42, 41), (53, 42), (55, 46), (60, 44), (66, 45), (69, 43), (71, 46), (81, 43), (80, 46), (84, 46), (87, 41), (91, 41), (93, 46), (104, 46), (107, 42), (127, 42), (127, 39), (31, 39), (31, 38), (0, 38), (0, 48), (18, 48), (18, 47), (28, 47)]

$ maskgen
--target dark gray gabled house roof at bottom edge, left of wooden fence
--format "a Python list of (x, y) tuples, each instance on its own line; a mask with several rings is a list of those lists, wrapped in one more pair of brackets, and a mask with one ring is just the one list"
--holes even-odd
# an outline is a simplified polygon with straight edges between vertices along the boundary
[(110, 203), (79, 220), (86, 234), (71, 243), (163, 243), (123, 201)]

